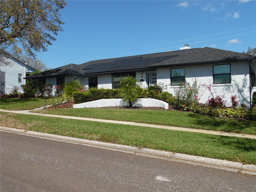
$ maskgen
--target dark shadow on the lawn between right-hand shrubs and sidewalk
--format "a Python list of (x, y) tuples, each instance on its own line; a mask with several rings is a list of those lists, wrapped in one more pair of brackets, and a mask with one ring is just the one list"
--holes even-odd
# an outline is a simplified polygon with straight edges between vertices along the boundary
[[(213, 116), (205, 116), (198, 114), (189, 114), (189, 117), (193, 118), (193, 123), (200, 126), (205, 126), (205, 129), (241, 133), (242, 130), (247, 129), (249, 126), (255, 124), (254, 121), (221, 118)], [(252, 133), (251, 133), (252, 134)], [(255, 133), (254, 133), (255, 134)]]

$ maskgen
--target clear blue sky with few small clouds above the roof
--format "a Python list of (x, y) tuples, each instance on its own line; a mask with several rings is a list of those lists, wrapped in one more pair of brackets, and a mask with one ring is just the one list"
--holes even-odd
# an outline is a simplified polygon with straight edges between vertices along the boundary
[(256, 47), (255, 0), (85, 1), (60, 10), (63, 32), (38, 52), (48, 68), (191, 48)]

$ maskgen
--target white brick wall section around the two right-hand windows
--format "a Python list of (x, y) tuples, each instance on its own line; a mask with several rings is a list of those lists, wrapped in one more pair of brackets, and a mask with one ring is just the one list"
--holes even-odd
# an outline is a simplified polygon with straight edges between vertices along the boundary
[[(229, 63), (226, 63), (229, 64)], [(236, 96), (238, 106), (246, 104), (250, 106), (250, 78), (249, 78), (249, 67), (248, 62), (236, 62), (231, 63), (231, 84), (214, 84), (213, 85), (213, 72), (212, 66), (215, 64), (197, 65), (197, 66), (186, 66), (185, 76), (186, 81), (191, 85), (193, 81), (197, 80), (198, 85), (204, 84), (201, 90), (201, 103), (206, 103), (211, 98), (211, 92), (206, 89), (206, 86), (210, 86), (212, 94), (216, 97), (224, 95), (224, 100), (227, 101), (227, 106), (231, 106), (230, 96)], [(182, 68), (182, 67), (176, 67)], [(157, 69), (157, 84), (164, 83), (167, 85), (168, 92), (175, 95), (174, 88), (177, 86), (170, 86), (170, 69), (171, 68), (160, 68)], [(200, 95), (201, 95), (200, 94)]]

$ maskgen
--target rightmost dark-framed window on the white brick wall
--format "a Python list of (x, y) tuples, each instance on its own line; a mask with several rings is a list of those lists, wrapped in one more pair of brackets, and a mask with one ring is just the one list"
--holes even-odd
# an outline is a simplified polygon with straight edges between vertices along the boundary
[(213, 66), (213, 84), (230, 84), (230, 64)]

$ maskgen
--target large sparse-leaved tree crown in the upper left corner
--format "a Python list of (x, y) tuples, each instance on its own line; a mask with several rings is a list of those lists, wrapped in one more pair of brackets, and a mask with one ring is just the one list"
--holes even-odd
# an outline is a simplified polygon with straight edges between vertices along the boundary
[(27, 55), (47, 51), (62, 31), (59, 10), (64, 0), (1, 0), (0, 46), (17, 55), (21, 45)]

